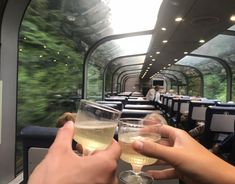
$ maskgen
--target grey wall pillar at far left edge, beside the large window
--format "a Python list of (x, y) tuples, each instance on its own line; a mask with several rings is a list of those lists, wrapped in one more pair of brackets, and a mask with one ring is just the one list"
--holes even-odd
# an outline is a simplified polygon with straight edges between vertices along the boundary
[(1, 23), (2, 130), (0, 183), (15, 178), (18, 31), (29, 0), (8, 0)]

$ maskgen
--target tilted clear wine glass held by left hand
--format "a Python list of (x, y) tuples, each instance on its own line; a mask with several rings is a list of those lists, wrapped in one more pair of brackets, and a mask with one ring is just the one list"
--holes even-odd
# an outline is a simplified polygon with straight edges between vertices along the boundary
[(121, 112), (88, 100), (81, 100), (75, 120), (74, 140), (82, 145), (83, 155), (105, 149), (111, 142)]

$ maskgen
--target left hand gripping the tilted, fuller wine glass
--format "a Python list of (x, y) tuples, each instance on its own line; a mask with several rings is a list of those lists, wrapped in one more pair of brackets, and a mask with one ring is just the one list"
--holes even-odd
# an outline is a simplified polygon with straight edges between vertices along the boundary
[(67, 122), (58, 130), (45, 159), (36, 167), (29, 184), (114, 184), (121, 149), (116, 141), (104, 151), (80, 157), (71, 148), (74, 123)]

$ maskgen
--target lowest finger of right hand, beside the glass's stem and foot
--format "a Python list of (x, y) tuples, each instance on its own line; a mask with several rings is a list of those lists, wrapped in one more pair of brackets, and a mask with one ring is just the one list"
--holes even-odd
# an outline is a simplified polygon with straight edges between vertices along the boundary
[(174, 168), (164, 169), (164, 170), (149, 170), (147, 171), (154, 179), (166, 180), (178, 178)]

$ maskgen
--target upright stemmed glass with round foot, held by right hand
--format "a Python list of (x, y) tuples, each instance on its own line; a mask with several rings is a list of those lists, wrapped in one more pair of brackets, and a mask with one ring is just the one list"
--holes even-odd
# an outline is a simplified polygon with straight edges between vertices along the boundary
[(156, 158), (146, 157), (132, 149), (132, 142), (135, 140), (148, 140), (158, 142), (161, 135), (158, 134), (158, 128), (162, 124), (151, 120), (138, 118), (122, 118), (119, 122), (118, 142), (122, 148), (121, 159), (130, 163), (133, 170), (123, 171), (119, 179), (125, 184), (151, 184), (153, 178), (141, 169), (144, 165), (151, 165), (157, 161)]

